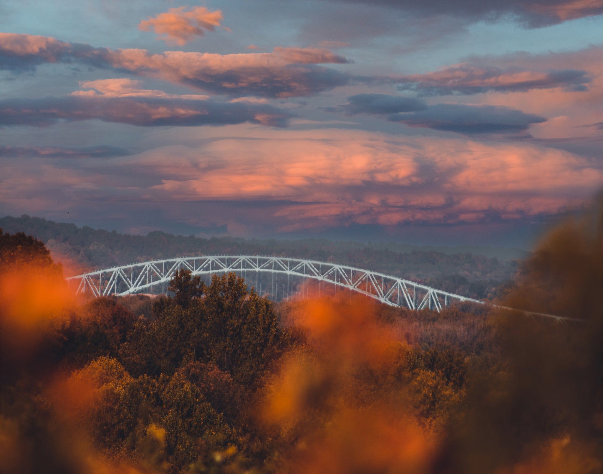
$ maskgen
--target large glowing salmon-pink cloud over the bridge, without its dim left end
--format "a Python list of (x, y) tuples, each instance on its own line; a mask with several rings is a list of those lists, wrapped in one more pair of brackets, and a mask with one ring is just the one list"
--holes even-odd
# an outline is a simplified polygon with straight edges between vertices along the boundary
[[(286, 139), (249, 143), (223, 139), (202, 152), (189, 150), (188, 164), (171, 168), (170, 176), (148, 192), (185, 201), (292, 200), (303, 205), (283, 206), (276, 216), (329, 226), (554, 214), (603, 185), (603, 171), (587, 160), (529, 144), (399, 139), (341, 130), (285, 134)], [(203, 162), (221, 166), (198, 168), (192, 164), (197, 153)], [(140, 165), (150, 157), (161, 166), (154, 152), (140, 156)]]

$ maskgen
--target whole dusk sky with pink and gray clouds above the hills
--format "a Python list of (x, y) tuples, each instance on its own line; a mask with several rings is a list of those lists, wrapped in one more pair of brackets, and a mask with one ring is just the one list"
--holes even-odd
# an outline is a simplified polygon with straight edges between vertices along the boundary
[(603, 187), (603, 0), (3, 0), (0, 215), (530, 248)]

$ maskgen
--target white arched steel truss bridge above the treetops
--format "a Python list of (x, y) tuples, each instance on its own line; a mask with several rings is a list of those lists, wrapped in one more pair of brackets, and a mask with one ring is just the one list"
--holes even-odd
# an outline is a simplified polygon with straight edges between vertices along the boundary
[[(212, 255), (156, 260), (106, 268), (67, 280), (70, 286), (78, 285), (78, 293), (92, 292), (95, 296), (123, 296), (141, 292), (159, 292), (159, 289), (161, 292), (166, 292), (169, 280), (176, 270), (190, 270), (193, 275), (210, 277), (212, 274), (235, 272), (252, 284), (255, 277), (256, 291), (262, 294), (263, 284), (264, 294), (273, 300), (287, 298), (298, 291), (307, 291), (308, 285), (299, 284), (301, 279), (303, 283), (308, 280), (317, 281), (319, 291), (321, 283), (329, 283), (335, 285), (335, 288), (359, 292), (386, 305), (399, 308), (429, 308), (439, 312), (453, 302), (483, 304), (479, 300), (376, 271), (327, 262), (257, 255)], [(267, 275), (271, 277), (268, 283)]]

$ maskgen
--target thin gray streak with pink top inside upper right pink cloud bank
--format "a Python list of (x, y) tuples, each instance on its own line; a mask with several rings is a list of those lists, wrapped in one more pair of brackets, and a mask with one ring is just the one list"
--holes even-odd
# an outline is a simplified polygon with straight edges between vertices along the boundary
[(531, 89), (585, 91), (592, 79), (586, 71), (551, 69), (529, 71), (525, 68), (461, 64), (428, 74), (398, 79), (398, 90), (411, 90), (422, 96), (473, 95), (484, 92), (525, 92)]

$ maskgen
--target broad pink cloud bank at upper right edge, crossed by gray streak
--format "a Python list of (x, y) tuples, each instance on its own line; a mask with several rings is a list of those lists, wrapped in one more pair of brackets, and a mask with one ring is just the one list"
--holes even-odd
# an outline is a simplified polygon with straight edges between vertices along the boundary
[(513, 107), (543, 116), (548, 120), (529, 129), (538, 139), (595, 137), (599, 130), (586, 126), (603, 121), (603, 46), (469, 57), (404, 80), (402, 89), (453, 95), (456, 104)]

